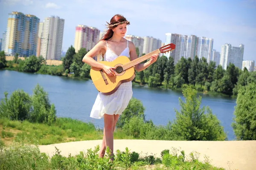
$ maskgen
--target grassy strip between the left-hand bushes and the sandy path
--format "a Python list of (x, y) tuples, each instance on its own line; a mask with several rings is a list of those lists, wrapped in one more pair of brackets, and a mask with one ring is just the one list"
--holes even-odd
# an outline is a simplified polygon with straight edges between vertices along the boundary
[[(30, 123), (28, 121), (11, 121), (0, 119), (0, 137), (6, 145), (19, 138), (26, 143), (55, 144), (62, 142), (102, 139), (102, 130), (92, 123), (85, 123), (70, 118), (57, 118), (54, 125)], [(114, 139), (133, 139), (122, 131), (116, 130)]]

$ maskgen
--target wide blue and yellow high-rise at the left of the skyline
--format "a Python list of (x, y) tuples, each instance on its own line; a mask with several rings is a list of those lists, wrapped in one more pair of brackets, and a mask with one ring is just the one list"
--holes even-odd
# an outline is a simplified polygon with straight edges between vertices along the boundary
[(40, 19), (35, 15), (12, 12), (8, 15), (5, 53), (29, 57), (36, 55)]

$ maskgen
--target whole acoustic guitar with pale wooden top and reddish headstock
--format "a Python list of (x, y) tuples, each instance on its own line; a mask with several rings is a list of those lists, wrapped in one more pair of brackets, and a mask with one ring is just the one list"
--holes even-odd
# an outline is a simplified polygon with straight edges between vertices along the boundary
[(99, 92), (102, 92), (103, 95), (110, 95), (113, 94), (122, 83), (129, 82), (134, 79), (135, 65), (149, 59), (153, 54), (166, 53), (174, 49), (175, 44), (170, 43), (132, 61), (126, 56), (119, 56), (111, 62), (100, 61), (104, 65), (114, 67), (116, 75), (108, 76), (108, 74), (106, 74), (102, 69), (91, 67), (90, 77)]

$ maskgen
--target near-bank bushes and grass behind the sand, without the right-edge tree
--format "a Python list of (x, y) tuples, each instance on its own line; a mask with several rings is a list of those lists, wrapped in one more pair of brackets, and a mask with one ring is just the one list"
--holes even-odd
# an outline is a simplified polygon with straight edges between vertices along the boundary
[[(156, 126), (152, 120), (145, 120), (145, 108), (140, 100), (132, 98), (116, 125), (115, 139), (156, 140), (226, 140), (221, 122), (210, 108), (200, 108), (201, 96), (193, 88), (183, 91), (185, 101), (176, 108), (176, 119), (167, 125)], [(0, 103), (1, 140), (6, 144), (17, 138), (34, 144), (102, 139), (102, 129), (90, 122), (81, 122), (56, 116), (55, 105), (48, 94), (36, 85), (29, 96), (23, 90), (16, 90)]]

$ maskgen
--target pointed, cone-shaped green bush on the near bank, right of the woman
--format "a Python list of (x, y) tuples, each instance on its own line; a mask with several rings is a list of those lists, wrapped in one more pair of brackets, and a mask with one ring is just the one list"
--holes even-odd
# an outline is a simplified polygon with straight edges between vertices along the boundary
[(196, 90), (190, 86), (183, 90), (185, 102), (179, 98), (180, 112), (175, 109), (176, 119), (172, 123), (172, 133), (183, 140), (225, 140), (221, 122), (209, 107), (200, 108), (201, 96), (197, 98)]

